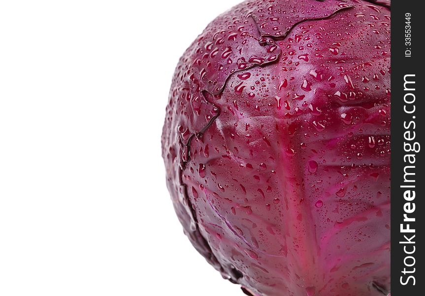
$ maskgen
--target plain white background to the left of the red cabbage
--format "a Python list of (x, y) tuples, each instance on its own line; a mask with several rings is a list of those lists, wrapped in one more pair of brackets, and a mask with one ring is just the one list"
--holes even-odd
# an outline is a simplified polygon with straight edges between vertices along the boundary
[(178, 58), (237, 2), (0, 1), (1, 296), (242, 295), (184, 236), (160, 143)]

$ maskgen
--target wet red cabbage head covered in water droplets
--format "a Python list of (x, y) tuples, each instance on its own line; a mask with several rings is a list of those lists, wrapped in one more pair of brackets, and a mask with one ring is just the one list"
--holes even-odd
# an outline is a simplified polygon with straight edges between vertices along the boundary
[(246, 1), (181, 58), (167, 185), (225, 278), (263, 296), (389, 291), (390, 23), (360, 0)]

